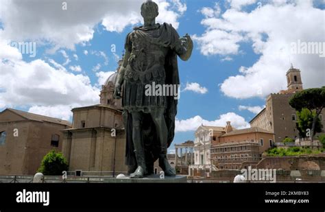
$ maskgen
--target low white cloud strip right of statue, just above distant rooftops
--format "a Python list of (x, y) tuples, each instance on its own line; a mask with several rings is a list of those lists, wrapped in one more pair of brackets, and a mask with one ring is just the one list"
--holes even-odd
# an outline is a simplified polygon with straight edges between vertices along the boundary
[(202, 124), (205, 126), (226, 126), (226, 121), (230, 121), (231, 125), (234, 128), (241, 129), (241, 128), (249, 128), (250, 124), (245, 121), (243, 117), (237, 115), (236, 113), (226, 113), (220, 115), (219, 119), (215, 119), (214, 121), (208, 121), (202, 119), (199, 115), (195, 117), (191, 117), (189, 119), (179, 120), (176, 119), (176, 132), (187, 132), (187, 131), (194, 131), (197, 130), (199, 126)]

